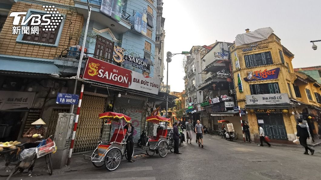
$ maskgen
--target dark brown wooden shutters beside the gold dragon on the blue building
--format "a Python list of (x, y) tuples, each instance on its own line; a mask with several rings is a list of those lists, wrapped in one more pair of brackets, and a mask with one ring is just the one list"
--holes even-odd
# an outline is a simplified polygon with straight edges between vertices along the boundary
[(114, 42), (101, 37), (97, 36), (96, 38), (96, 47), (95, 47), (95, 58), (101, 59), (106, 58), (107, 60), (112, 60), (114, 49)]

